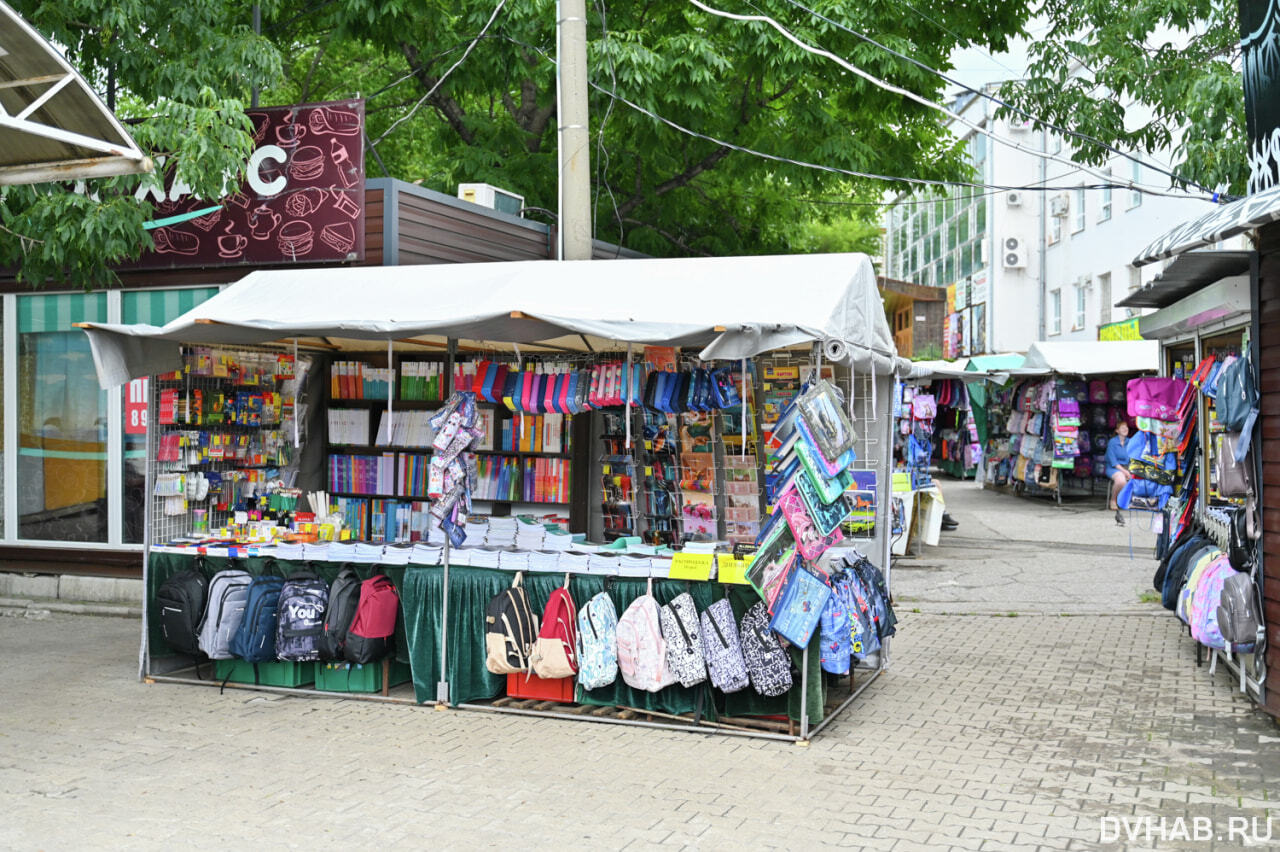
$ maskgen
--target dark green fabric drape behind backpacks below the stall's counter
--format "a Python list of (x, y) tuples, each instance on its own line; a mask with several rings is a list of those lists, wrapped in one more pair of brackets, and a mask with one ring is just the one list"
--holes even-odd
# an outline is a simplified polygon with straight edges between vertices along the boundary
[[(325, 582), (333, 582), (343, 568), (335, 562), (292, 562), (274, 560), (262, 556), (230, 559), (225, 556), (196, 556), (188, 554), (152, 554), (147, 574), (147, 594), (154, 599), (155, 591), (165, 580), (200, 565), (201, 571), (212, 577), (227, 568), (241, 568), (257, 576), (275, 565), (275, 573), (288, 576), (300, 568), (315, 571)], [(361, 580), (375, 572), (385, 573), (401, 595), (401, 617), (396, 624), (396, 659), (408, 663), (413, 675), (413, 695), (417, 701), (435, 700), (435, 686), (440, 678), (440, 603), (444, 595), (444, 569), (440, 565), (371, 565), (349, 563)], [(485, 606), (502, 590), (511, 586), (515, 576), (509, 571), (497, 568), (472, 568), (453, 565), (449, 568), (449, 608), (448, 608), (448, 669), (449, 701), (454, 705), (468, 701), (484, 701), (506, 693), (506, 675), (492, 674), (485, 668)], [(525, 572), (522, 583), (529, 594), (529, 604), (541, 618), (552, 591), (564, 583), (564, 574)], [(627, 577), (604, 577), (573, 574), (570, 578), (570, 595), (573, 604), (581, 606), (591, 596), (607, 591), (621, 617), (627, 606), (645, 594), (648, 581)], [(653, 594), (659, 605), (669, 603), (681, 592), (690, 592), (698, 610), (701, 611), (717, 599), (728, 596), (733, 614), (741, 619), (749, 606), (759, 597), (746, 586), (722, 586), (714, 582), (687, 582), (680, 580), (655, 580)], [(151, 654), (164, 656), (173, 654), (165, 645), (159, 619), (152, 618), (148, 627)], [(819, 637), (814, 632), (809, 649), (809, 704), (810, 724), (823, 718), (826, 697), (824, 678), (819, 665)], [(791, 649), (796, 686), (782, 696), (765, 698), (750, 687), (733, 695), (723, 695), (710, 687), (710, 681), (692, 688), (678, 683), (659, 692), (644, 692), (626, 684), (620, 674), (613, 684), (586, 691), (577, 687), (575, 698), (580, 704), (599, 706), (627, 706), (637, 710), (653, 710), (667, 714), (687, 714), (700, 709), (704, 718), (716, 719), (721, 715), (777, 715), (800, 718), (800, 661), (799, 649)]]

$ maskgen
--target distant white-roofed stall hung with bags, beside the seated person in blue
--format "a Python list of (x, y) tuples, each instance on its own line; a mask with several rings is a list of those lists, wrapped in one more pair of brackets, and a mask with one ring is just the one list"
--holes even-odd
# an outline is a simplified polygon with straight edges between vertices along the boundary
[(988, 487), (1018, 494), (1106, 496), (1107, 440), (1126, 414), (1126, 386), (1156, 372), (1158, 347), (1146, 340), (1033, 343), (1010, 383), (989, 390), (1009, 411), (1004, 440), (984, 459)]

